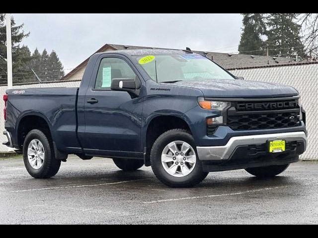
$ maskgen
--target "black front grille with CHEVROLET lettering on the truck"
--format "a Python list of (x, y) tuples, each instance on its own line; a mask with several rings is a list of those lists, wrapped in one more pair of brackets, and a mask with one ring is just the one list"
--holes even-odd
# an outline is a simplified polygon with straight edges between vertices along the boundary
[(301, 125), (298, 100), (233, 102), (227, 125), (233, 130), (286, 128)]

